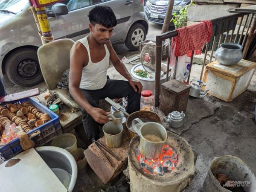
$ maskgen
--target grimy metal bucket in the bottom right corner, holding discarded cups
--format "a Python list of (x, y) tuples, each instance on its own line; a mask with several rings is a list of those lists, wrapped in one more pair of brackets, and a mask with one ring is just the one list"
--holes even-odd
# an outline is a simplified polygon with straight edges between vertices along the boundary
[[(232, 178), (235, 182), (228, 183), (231, 187), (241, 186), (245, 192), (255, 192), (256, 178), (250, 168), (238, 157), (224, 155), (215, 157), (204, 180), (203, 192), (230, 192), (221, 186), (213, 174), (222, 173)], [(227, 183), (225, 183), (227, 185)]]

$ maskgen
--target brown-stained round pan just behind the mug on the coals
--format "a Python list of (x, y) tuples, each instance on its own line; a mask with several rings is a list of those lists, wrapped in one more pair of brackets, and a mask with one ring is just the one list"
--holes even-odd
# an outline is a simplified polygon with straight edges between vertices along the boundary
[(128, 129), (128, 136), (130, 140), (138, 135), (136, 131), (130, 130), (130, 128), (132, 127), (131, 122), (135, 118), (140, 118), (143, 122), (158, 122), (160, 124), (162, 123), (161, 117), (157, 113), (154, 113), (152, 111), (136, 111), (134, 113), (131, 113), (127, 117), (125, 122), (125, 125)]

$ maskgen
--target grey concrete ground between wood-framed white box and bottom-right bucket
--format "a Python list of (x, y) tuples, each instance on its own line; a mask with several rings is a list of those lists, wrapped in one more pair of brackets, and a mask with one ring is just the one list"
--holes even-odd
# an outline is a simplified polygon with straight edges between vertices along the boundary
[[(253, 113), (255, 98), (256, 92), (250, 90), (246, 90), (230, 103), (213, 96), (204, 98), (214, 104), (216, 110), (181, 134), (198, 153), (197, 174), (186, 191), (201, 191), (208, 166), (214, 157), (234, 155), (256, 173), (256, 123)], [(200, 112), (195, 111), (195, 116), (196, 113)]]

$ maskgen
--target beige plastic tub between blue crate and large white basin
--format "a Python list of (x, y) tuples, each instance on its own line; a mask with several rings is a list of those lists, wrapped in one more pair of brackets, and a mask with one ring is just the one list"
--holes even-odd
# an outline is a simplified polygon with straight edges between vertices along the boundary
[(77, 149), (76, 136), (70, 133), (61, 134), (52, 140), (52, 146), (64, 148), (70, 153)]

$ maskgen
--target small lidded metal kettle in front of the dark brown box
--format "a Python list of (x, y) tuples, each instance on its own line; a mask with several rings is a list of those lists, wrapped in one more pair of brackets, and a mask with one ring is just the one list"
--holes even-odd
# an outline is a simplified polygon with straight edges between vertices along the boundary
[(170, 127), (179, 128), (183, 125), (184, 117), (185, 114), (183, 111), (181, 111), (181, 113), (179, 111), (172, 111), (172, 113), (169, 113), (168, 119), (163, 116), (163, 120), (168, 122)]

